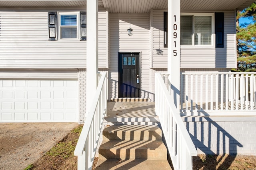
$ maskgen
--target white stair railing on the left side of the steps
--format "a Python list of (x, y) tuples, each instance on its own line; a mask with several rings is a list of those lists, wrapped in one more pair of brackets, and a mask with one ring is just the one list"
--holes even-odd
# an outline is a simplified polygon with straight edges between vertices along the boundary
[[(101, 74), (98, 88), (87, 112), (87, 117), (80, 137), (78, 139), (74, 155), (78, 156), (78, 170), (90, 170), (97, 149), (102, 123), (107, 112), (107, 74)], [(89, 100), (89, 99), (88, 99)]]

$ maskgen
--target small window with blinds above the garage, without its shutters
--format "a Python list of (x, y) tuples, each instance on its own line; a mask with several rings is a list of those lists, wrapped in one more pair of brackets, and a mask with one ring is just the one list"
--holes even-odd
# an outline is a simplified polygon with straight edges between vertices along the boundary
[(59, 39), (78, 39), (79, 12), (59, 14)]

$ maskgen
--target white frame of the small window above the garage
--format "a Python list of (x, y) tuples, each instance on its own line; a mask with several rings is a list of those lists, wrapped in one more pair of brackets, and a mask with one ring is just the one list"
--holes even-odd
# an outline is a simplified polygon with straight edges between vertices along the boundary
[[(74, 40), (74, 41), (79, 41), (80, 40), (80, 12), (76, 11), (76, 12), (57, 12), (58, 13), (58, 41), (70, 41), (70, 40)], [(73, 26), (77, 28), (77, 37), (76, 38), (60, 38), (61, 35), (61, 27), (65, 27), (65, 26), (61, 26), (60, 25), (60, 16), (61, 15), (76, 15), (76, 20), (77, 20), (77, 25)], [(68, 26), (70, 27), (70, 26)]]

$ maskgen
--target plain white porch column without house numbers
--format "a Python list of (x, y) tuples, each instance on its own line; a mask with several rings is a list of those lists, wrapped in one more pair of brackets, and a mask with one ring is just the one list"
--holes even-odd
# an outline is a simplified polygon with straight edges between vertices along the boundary
[(87, 0), (86, 113), (92, 105), (98, 73), (98, 0)]

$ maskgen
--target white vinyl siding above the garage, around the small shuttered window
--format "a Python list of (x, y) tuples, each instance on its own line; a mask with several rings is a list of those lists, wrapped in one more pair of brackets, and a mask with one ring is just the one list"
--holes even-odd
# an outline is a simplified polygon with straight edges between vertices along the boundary
[[(48, 12), (68, 8), (15, 10), (0, 11), (0, 68), (86, 68), (87, 41), (48, 41)], [(100, 8), (99, 68), (107, 66), (106, 22)]]

